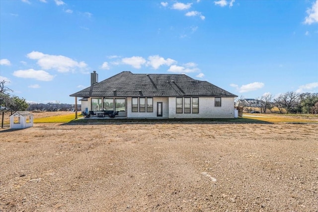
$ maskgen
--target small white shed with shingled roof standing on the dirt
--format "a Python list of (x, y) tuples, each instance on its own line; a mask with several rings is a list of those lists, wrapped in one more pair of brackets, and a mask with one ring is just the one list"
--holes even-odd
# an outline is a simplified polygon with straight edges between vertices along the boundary
[(11, 129), (33, 127), (33, 114), (29, 111), (15, 111), (10, 115)]

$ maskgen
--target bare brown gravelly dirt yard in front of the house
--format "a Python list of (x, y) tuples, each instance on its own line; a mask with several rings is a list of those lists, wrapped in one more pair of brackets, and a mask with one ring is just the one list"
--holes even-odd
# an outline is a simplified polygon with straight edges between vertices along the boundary
[(0, 130), (0, 211), (317, 212), (317, 124)]

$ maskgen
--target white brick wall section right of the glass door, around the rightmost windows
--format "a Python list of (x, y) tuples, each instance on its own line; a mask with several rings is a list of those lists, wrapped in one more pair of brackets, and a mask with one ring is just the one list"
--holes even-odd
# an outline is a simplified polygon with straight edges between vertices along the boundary
[(221, 99), (221, 107), (215, 107), (214, 97), (199, 97), (199, 113), (176, 113), (176, 98), (169, 97), (169, 118), (234, 118), (234, 97)]

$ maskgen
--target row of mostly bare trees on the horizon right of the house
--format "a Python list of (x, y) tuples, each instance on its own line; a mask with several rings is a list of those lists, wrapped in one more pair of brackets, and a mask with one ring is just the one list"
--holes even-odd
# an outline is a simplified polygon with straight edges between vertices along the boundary
[[(236, 101), (236, 105), (247, 107), (246, 102), (241, 101), (241, 99)], [(318, 93), (288, 91), (281, 93), (277, 98), (273, 98), (270, 93), (265, 93), (257, 100), (257, 107), (260, 108), (261, 113), (273, 112), (272, 109), (276, 107), (279, 113), (286, 111), (286, 113), (318, 114)]]

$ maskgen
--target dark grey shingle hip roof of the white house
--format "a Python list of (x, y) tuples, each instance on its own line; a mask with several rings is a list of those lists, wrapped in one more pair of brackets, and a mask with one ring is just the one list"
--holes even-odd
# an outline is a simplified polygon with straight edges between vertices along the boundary
[(123, 71), (70, 96), (218, 96), (237, 97), (185, 74), (134, 74)]

